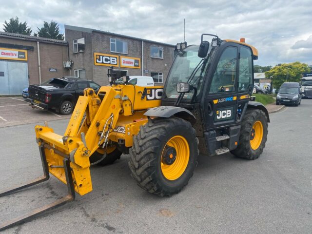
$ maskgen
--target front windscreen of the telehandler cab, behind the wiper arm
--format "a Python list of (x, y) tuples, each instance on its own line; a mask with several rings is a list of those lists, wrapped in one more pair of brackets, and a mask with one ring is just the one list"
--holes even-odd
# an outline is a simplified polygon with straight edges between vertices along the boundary
[[(202, 76), (200, 77), (202, 59), (197, 56), (198, 48), (198, 45), (189, 46), (185, 50), (178, 52), (178, 55), (176, 56), (170, 74), (168, 76), (167, 86), (165, 90), (165, 95), (167, 98), (178, 98), (179, 93), (176, 92), (176, 83), (188, 82), (192, 73), (194, 75), (194, 78), (192, 78), (189, 82), (194, 85), (195, 88), (197, 88), (197, 94), (199, 93), (207, 66), (204, 68)], [(200, 64), (200, 62), (201, 65), (196, 68), (196, 66)], [(191, 99), (193, 97), (193, 94), (194, 90), (192, 90), (190, 93), (186, 93), (183, 99)]]

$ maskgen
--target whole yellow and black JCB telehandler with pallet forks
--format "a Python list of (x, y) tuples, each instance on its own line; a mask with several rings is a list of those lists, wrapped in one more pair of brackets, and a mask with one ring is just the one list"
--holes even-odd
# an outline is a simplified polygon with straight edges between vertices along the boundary
[[(203, 40), (211, 36), (211, 43)], [(49, 179), (67, 184), (68, 195), (15, 220), (26, 221), (92, 191), (90, 166), (107, 165), (130, 154), (137, 184), (149, 193), (171, 196), (193, 176), (199, 151), (227, 152), (256, 159), (268, 134), (269, 114), (251, 101), (253, 59), (257, 50), (244, 42), (202, 34), (199, 46), (178, 44), (165, 86), (140, 87), (109, 69), (110, 86), (79, 97), (64, 136), (35, 127), (44, 175), (0, 196)]]

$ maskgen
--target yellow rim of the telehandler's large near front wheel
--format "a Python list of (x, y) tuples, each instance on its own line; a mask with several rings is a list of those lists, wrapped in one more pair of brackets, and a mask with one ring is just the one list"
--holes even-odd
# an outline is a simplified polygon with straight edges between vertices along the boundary
[[(173, 148), (173, 149), (172, 149)], [(169, 153), (168, 155), (165, 149), (171, 149), (174, 151), (174, 155)], [(170, 159), (174, 158), (174, 161), (171, 165), (168, 165), (165, 158), (168, 157)], [(170, 160), (169, 159), (169, 160)], [(175, 180), (182, 176), (184, 173), (190, 159), (190, 147), (189, 143), (182, 136), (175, 136), (170, 138), (167, 141), (166, 146), (164, 147), (161, 154), (161, 172), (169, 180)]]

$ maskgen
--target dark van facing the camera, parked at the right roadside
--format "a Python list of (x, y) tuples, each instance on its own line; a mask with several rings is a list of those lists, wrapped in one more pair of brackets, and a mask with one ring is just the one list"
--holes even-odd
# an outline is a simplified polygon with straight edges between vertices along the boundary
[(300, 84), (297, 82), (285, 82), (277, 93), (276, 105), (294, 104), (298, 106), (301, 103), (301, 98)]

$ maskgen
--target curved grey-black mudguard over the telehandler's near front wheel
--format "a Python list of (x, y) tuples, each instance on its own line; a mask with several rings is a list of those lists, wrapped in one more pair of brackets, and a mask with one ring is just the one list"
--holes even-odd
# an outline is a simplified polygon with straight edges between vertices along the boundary
[(196, 122), (195, 116), (189, 110), (177, 107), (177, 106), (158, 106), (149, 109), (147, 112), (144, 113), (145, 116), (148, 117), (164, 117), (169, 118), (172, 116), (180, 117), (185, 120), (190, 121), (191, 123)]

